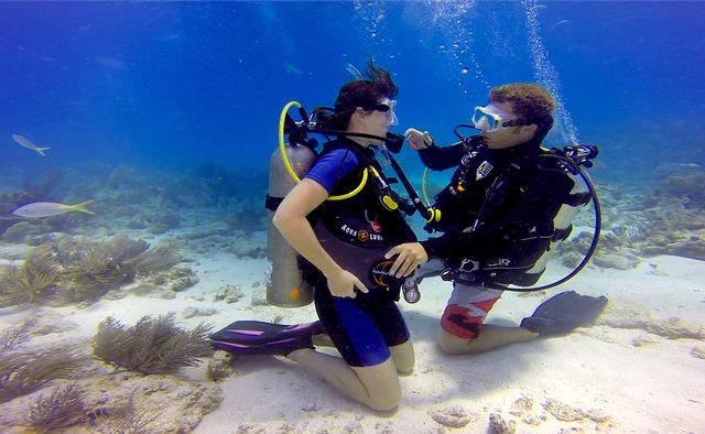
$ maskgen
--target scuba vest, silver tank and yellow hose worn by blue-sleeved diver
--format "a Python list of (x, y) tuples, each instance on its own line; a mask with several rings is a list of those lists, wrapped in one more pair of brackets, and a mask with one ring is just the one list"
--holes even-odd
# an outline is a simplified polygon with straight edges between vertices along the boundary
[[(299, 109), (301, 121), (295, 122), (289, 115), (289, 110), (292, 107)], [(265, 202), (265, 207), (270, 211), (268, 260), (271, 267), (267, 284), (267, 300), (270, 304), (281, 307), (297, 307), (310, 304), (313, 301), (313, 286), (308, 282), (319, 280), (317, 279), (319, 278), (318, 270), (301, 258), (272, 224), (272, 217), (279, 204), (293, 186), (300, 182), (301, 177), (308, 172), (317, 158), (315, 152), (317, 142), (307, 135), (307, 133), (312, 132), (326, 137), (334, 134), (379, 139), (393, 145), (397, 151), (401, 149), (401, 142), (403, 142), (403, 135), (391, 133), (388, 133), (387, 138), (377, 138), (369, 134), (321, 130), (315, 124), (314, 113), (308, 118), (301, 104), (291, 101), (284, 107), (279, 123), (279, 149), (274, 151), (270, 159), (269, 194)], [(284, 134), (289, 134), (288, 141), (284, 140)], [(339, 188), (343, 192), (333, 192), (325, 203), (326, 205), (341, 205), (323, 207), (324, 209), (333, 209), (334, 213), (321, 219), (322, 223), (327, 221), (327, 225), (314, 221), (314, 230), (321, 243), (334, 260), (345, 264), (350, 272), (361, 279), (368, 286), (399, 286), (400, 280), (388, 273), (393, 260), (384, 260), (383, 254), (389, 247), (393, 246), (392, 242), (415, 240), (415, 237), (397, 209), (413, 214), (414, 205), (416, 208), (423, 208), (421, 199), (415, 194), (414, 205), (409, 205), (398, 197), (389, 188), (389, 180), (383, 177), (379, 165), (376, 166), (373, 164), (373, 159), (365, 155), (361, 150), (354, 150), (354, 152), (357, 152), (359, 170), (354, 171), (350, 181), (344, 183), (345, 186)], [(410, 183), (403, 175), (401, 167), (391, 155), (390, 160), (402, 183), (409, 189)], [(366, 164), (367, 166), (362, 167)], [(412, 191), (412, 193), (414, 192)], [(351, 205), (352, 203), (345, 204), (358, 194), (360, 196), (356, 199), (356, 203), (378, 204), (386, 211), (386, 214), (381, 215), (382, 219), (376, 220), (373, 217), (371, 218), (368, 223), (371, 230), (366, 228), (356, 229), (357, 224), (352, 224), (349, 217), (346, 217), (359, 215), (359, 213), (354, 213), (357, 209), (355, 205)], [(346, 208), (347, 213), (345, 211)], [(368, 213), (368, 217), (370, 214)], [(339, 218), (330, 218), (330, 216), (339, 216)], [(380, 230), (384, 231), (384, 236), (376, 234), (376, 228), (381, 228)], [(341, 230), (344, 234), (341, 234)], [(399, 230), (399, 232), (394, 232), (394, 230)], [(350, 258), (357, 258), (357, 260), (350, 260)], [(304, 279), (304, 274), (306, 279)], [(413, 279), (406, 279), (401, 284), (404, 290), (404, 299), (408, 302), (413, 303), (419, 300), (420, 293)]]

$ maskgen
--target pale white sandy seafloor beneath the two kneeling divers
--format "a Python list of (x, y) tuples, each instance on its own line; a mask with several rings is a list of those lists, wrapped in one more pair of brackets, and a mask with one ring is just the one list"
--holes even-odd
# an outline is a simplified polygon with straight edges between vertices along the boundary
[[(199, 282), (174, 300), (129, 295), (84, 308), (4, 310), (0, 327), (50, 311), (77, 325), (61, 339), (90, 338), (108, 315), (132, 325), (143, 315), (176, 312), (180, 325), (193, 327), (206, 321), (216, 329), (236, 319), (315, 319), (312, 305), (261, 304), (264, 259), (228, 253), (188, 257)], [(550, 272), (558, 276), (565, 271)], [(421, 285), (420, 303), (401, 302), (416, 367), (401, 379), (403, 398), (397, 411), (370, 411), (286, 359), (247, 357), (236, 360), (234, 376), (219, 382), (223, 402), (205, 415), (195, 433), (501, 432), (490, 421), (514, 424), (518, 433), (705, 432), (703, 282), (703, 262), (679, 257), (643, 259), (629, 271), (590, 265), (547, 293), (506, 293), (488, 322), (516, 325), (547, 296), (576, 290), (609, 297), (609, 308), (597, 325), (482, 355), (449, 356), (438, 349), (435, 333), (451, 284), (429, 279)], [(226, 284), (238, 286), (245, 296), (231, 304), (214, 302), (213, 293)], [(218, 313), (184, 319), (181, 313), (193, 306), (216, 307)], [(209, 382), (204, 361), (180, 375)]]

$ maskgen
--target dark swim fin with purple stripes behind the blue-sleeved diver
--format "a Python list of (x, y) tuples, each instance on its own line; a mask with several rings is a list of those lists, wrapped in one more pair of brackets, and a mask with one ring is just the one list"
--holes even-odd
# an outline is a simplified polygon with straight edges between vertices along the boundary
[(313, 348), (313, 335), (325, 333), (317, 321), (307, 324), (274, 324), (260, 321), (236, 321), (210, 335), (210, 345), (236, 355), (281, 355), (301, 348)]

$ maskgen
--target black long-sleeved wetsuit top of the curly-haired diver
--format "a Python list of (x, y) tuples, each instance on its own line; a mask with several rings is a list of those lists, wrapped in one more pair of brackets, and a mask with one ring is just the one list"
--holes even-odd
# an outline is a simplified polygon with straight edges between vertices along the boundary
[(553, 218), (574, 185), (556, 159), (542, 154), (535, 143), (490, 150), (480, 135), (420, 151), (431, 170), (457, 167), (435, 196), (442, 217), (427, 229), (443, 235), (421, 242), (429, 257), (451, 267), (477, 261), (478, 282), (518, 283), (547, 249)]

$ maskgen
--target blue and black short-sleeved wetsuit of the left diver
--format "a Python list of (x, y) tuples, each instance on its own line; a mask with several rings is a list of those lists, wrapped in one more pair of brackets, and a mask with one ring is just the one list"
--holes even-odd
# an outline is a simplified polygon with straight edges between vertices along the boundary
[[(332, 196), (344, 195), (360, 184), (369, 165), (381, 174), (371, 150), (340, 138), (326, 144), (305, 177), (321, 184)], [(358, 194), (326, 200), (310, 217), (324, 249), (366, 284), (370, 257), (381, 258), (392, 246), (415, 240), (401, 214), (381, 205), (371, 174)], [(395, 304), (398, 287), (368, 284), (369, 293), (358, 293), (355, 299), (336, 297), (317, 269), (310, 264), (303, 268), (307, 269), (305, 279), (314, 286), (318, 317), (348, 365), (379, 365), (390, 357), (388, 347), (409, 340), (409, 329)]]

